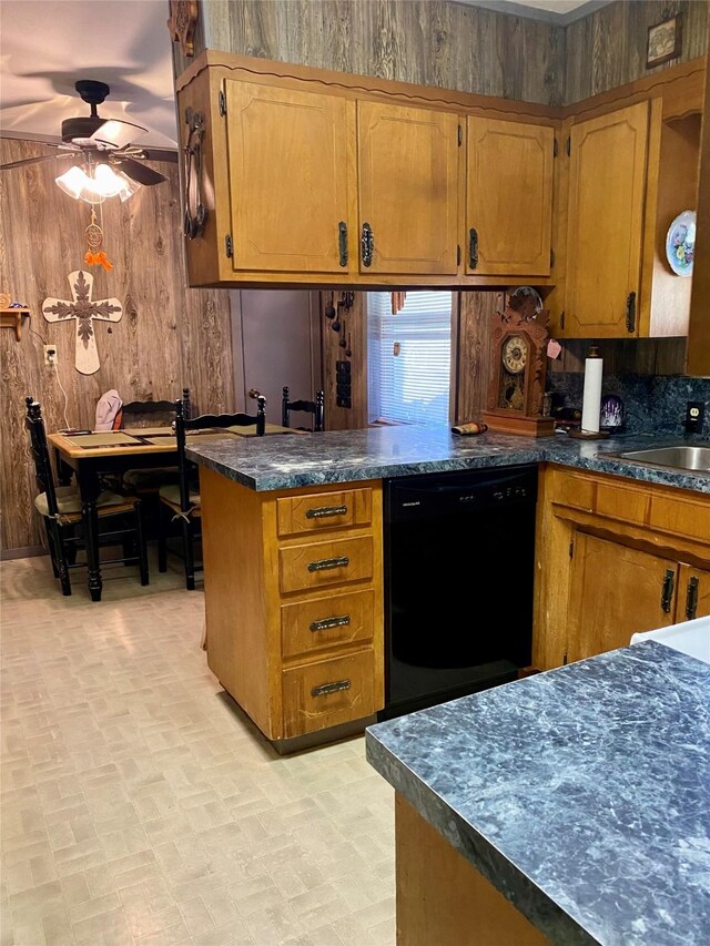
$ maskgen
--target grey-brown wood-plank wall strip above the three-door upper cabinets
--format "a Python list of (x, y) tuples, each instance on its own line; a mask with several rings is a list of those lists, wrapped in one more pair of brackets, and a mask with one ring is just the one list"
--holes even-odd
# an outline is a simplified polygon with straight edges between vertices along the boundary
[(200, 16), (199, 42), (224, 52), (562, 104), (565, 30), (537, 20), (444, 0), (209, 0)]

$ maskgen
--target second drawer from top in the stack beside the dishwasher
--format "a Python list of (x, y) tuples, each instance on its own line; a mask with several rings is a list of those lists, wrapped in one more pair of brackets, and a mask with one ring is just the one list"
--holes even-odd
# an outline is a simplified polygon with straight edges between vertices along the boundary
[(373, 560), (372, 536), (280, 549), (278, 583), (282, 594), (371, 579)]

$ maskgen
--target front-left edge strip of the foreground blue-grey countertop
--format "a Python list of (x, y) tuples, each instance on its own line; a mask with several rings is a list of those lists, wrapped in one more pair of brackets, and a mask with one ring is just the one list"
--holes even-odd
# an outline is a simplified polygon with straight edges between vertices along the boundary
[(455, 851), (551, 943), (560, 946), (598, 946), (598, 940), (564, 907), (426, 785), (368, 729), (365, 730), (365, 757)]

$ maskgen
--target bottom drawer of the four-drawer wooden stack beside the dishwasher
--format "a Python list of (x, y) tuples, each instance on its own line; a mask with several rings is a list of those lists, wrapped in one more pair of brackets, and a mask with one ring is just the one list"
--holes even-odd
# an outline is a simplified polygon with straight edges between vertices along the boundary
[(284, 738), (316, 732), (382, 709), (371, 650), (284, 670)]

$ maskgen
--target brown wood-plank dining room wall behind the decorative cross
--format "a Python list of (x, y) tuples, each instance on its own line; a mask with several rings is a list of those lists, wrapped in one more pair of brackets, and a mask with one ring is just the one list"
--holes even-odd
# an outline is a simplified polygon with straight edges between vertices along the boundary
[[(36, 142), (0, 141), (2, 162), (39, 153), (55, 152)], [(63, 396), (53, 369), (44, 367), (44, 343), (57, 345), (71, 425), (93, 427), (97, 401), (110, 388), (128, 401), (172, 399), (186, 386), (199, 407), (234, 409), (229, 293), (185, 288), (178, 165), (153, 166), (169, 180), (124, 204), (113, 199), (103, 205), (110, 273), (83, 263), (89, 204), (57, 187), (55, 162), (0, 175), (0, 291), (32, 309), (20, 342), (0, 329), (3, 551), (41, 543), (24, 397), (42, 404), (48, 429), (64, 426)], [(118, 324), (94, 323), (101, 367), (88, 376), (74, 369), (74, 323), (50, 325), (41, 313), (48, 296), (71, 298), (67, 276), (82, 267), (94, 276), (94, 298), (116, 296), (124, 307)]]

